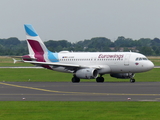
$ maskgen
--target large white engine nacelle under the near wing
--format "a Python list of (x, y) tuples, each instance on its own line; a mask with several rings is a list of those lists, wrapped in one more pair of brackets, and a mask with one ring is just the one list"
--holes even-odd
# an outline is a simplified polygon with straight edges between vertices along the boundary
[(75, 73), (76, 77), (82, 79), (95, 79), (98, 76), (98, 71), (91, 68), (85, 68), (77, 70)]

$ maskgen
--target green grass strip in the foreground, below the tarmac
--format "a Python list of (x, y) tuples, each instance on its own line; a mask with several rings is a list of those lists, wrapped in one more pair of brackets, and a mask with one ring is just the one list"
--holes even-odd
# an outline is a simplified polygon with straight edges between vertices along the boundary
[(159, 102), (0, 102), (0, 120), (159, 120)]

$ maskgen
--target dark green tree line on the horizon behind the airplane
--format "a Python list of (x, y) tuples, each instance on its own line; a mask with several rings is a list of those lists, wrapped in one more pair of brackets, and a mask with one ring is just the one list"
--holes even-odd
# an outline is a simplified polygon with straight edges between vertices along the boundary
[[(111, 52), (111, 51), (133, 51), (139, 52), (147, 56), (160, 55), (160, 39), (159, 38), (141, 38), (133, 40), (123, 36), (118, 37), (115, 41), (111, 41), (105, 37), (95, 37), (76, 43), (67, 40), (49, 40), (44, 42), (46, 47), (52, 52), (74, 51), (74, 52)], [(22, 56), (28, 54), (27, 42), (19, 40), (16, 37), (8, 39), (0, 39), (0, 55), (1, 56)]]

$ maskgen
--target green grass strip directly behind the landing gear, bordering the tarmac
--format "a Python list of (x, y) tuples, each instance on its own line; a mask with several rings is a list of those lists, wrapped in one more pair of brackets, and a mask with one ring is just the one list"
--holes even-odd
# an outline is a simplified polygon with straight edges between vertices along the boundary
[[(135, 79), (137, 82), (158, 82), (160, 69), (154, 68), (151, 71), (144, 73), (137, 73)], [(0, 81), (5, 82), (70, 82), (72, 74), (61, 73), (47, 69), (13, 69), (13, 68), (1, 68), (0, 69)], [(129, 79), (117, 79), (110, 77), (109, 74), (104, 75), (105, 82), (128, 82)], [(82, 82), (92, 81), (95, 79), (86, 80), (81, 79)]]

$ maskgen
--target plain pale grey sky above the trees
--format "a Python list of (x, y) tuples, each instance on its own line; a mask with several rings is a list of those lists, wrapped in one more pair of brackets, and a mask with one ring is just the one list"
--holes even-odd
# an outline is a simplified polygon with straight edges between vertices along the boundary
[(24, 24), (43, 41), (160, 38), (160, 0), (1, 0), (0, 38), (25, 40)]

